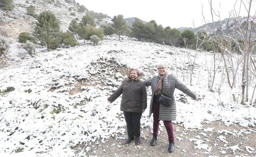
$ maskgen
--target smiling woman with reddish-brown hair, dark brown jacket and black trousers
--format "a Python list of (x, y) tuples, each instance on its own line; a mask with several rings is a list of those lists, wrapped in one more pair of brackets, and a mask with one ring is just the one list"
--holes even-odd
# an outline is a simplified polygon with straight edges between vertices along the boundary
[(135, 137), (135, 144), (140, 144), (140, 119), (147, 108), (147, 90), (143, 81), (140, 80), (140, 72), (130, 69), (129, 76), (122, 85), (107, 99), (115, 101), (122, 94), (120, 110), (124, 113), (128, 138), (125, 143), (129, 144)]

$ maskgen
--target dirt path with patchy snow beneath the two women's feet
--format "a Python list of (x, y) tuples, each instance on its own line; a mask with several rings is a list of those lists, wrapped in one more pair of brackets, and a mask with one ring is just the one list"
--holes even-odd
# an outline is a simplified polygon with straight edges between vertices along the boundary
[[(235, 125), (227, 127), (220, 121), (205, 124), (202, 130), (186, 130), (178, 124), (173, 124), (173, 127), (175, 137), (173, 153), (167, 152), (169, 143), (164, 126), (155, 147), (149, 145), (152, 138), (151, 129), (143, 128), (141, 144), (138, 146), (134, 144), (134, 140), (130, 144), (125, 144), (122, 137), (126, 135), (120, 135), (120, 137), (110, 138), (106, 143), (91, 143), (91, 150), (88, 153), (89, 156), (98, 157), (256, 156), (256, 129), (254, 128)], [(200, 147), (203, 148), (199, 149)]]

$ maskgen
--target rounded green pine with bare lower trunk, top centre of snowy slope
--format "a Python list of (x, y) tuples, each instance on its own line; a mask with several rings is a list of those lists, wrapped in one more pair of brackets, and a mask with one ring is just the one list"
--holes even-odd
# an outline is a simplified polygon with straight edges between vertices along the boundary
[(114, 33), (119, 36), (124, 35), (125, 31), (127, 30), (128, 26), (124, 20), (123, 15), (114, 16), (112, 19), (113, 24), (111, 25), (114, 28)]

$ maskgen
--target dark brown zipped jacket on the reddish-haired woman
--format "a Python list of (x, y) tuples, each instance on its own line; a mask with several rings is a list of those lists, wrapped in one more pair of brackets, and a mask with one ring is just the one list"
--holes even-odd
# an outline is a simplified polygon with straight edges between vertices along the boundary
[(141, 109), (147, 108), (147, 90), (140, 78), (136, 78), (134, 81), (129, 77), (125, 79), (108, 100), (113, 102), (121, 94), (123, 94), (120, 106), (121, 111), (141, 113)]

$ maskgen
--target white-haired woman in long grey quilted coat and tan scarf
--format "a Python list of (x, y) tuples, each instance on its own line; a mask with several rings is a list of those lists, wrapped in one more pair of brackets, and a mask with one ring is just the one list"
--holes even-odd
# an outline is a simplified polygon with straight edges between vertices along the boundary
[[(159, 121), (163, 120), (169, 140), (168, 152), (171, 153), (174, 150), (174, 135), (171, 121), (176, 120), (176, 103), (175, 98), (173, 97), (174, 90), (177, 88), (196, 101), (198, 101), (198, 98), (191, 90), (186, 87), (186, 85), (180, 82), (176, 76), (168, 75), (166, 73), (166, 63), (158, 64), (157, 70), (158, 76), (153, 76), (151, 79), (144, 81), (145, 86), (151, 86), (152, 90), (149, 117), (153, 113), (153, 138), (150, 141), (150, 145), (155, 146), (158, 136)], [(157, 102), (158, 97), (161, 94), (173, 98), (170, 107), (164, 106)]]

